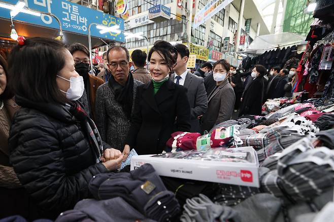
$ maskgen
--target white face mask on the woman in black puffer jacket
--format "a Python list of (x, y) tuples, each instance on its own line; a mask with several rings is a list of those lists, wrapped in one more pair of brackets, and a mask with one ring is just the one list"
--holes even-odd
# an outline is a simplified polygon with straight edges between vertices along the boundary
[(68, 98), (71, 101), (75, 101), (78, 100), (79, 98), (81, 98), (83, 91), (85, 89), (85, 84), (83, 82), (83, 78), (81, 76), (79, 77), (71, 77), (70, 80), (67, 80), (63, 77), (60, 77), (57, 75), (57, 77), (70, 82), (70, 88), (64, 92), (62, 90), (60, 90), (61, 92), (66, 94), (66, 98)]

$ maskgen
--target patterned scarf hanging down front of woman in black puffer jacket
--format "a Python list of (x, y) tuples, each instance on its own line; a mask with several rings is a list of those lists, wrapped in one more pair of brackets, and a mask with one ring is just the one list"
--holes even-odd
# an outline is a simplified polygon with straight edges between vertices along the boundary
[(80, 121), (83, 126), (85, 126), (89, 145), (93, 149), (94, 155), (96, 157), (96, 163), (101, 162), (101, 157), (103, 155), (103, 144), (95, 123), (89, 118), (89, 115), (86, 113), (85, 109), (83, 109), (80, 103), (77, 101), (73, 101), (70, 112), (77, 120)]

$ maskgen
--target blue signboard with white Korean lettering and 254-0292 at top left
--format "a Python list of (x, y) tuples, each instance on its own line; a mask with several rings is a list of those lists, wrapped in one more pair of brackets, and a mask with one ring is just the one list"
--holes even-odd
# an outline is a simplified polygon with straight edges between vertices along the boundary
[[(18, 0), (2, 0), (0, 2), (16, 5)], [(97, 23), (108, 27), (119, 25), (119, 29), (124, 30), (123, 19), (65, 0), (25, 0), (25, 3), (26, 8), (40, 12), (49, 12), (57, 16), (61, 21), (64, 31), (88, 35), (88, 26), (90, 23)], [(0, 17), (10, 19), (10, 10), (0, 8)], [(21, 12), (13, 20), (59, 29), (59, 24), (55, 18), (48, 15), (38, 17)], [(95, 25), (91, 26), (90, 31), (92, 36), (98, 38), (124, 42), (124, 34), (122, 32), (119, 34), (114, 32), (101, 34)]]

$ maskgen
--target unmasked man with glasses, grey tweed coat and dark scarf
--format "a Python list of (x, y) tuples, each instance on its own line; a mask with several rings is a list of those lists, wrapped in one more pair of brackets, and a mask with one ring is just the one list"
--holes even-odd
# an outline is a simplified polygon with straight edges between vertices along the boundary
[(143, 83), (133, 79), (129, 51), (112, 46), (107, 51), (111, 76), (96, 94), (96, 126), (102, 140), (123, 151), (131, 125), (137, 87)]

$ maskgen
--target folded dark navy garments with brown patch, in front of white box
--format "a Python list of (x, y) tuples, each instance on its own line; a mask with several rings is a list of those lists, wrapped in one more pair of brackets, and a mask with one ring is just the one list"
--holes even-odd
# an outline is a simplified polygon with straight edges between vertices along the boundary
[(165, 221), (181, 211), (174, 193), (167, 191), (150, 164), (129, 173), (98, 174), (91, 179), (89, 190), (97, 200), (123, 198), (147, 217)]

